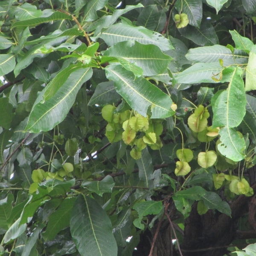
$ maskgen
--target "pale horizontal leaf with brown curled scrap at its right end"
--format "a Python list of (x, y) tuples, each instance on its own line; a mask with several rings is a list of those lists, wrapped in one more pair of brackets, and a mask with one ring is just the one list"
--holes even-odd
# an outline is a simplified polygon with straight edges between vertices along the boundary
[(175, 81), (180, 84), (215, 83), (223, 70), (219, 62), (196, 63), (181, 73), (173, 73)]

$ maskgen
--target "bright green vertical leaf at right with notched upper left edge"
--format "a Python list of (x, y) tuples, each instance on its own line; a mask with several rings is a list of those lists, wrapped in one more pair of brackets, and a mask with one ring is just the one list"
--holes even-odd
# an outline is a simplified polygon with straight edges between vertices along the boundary
[[(214, 127), (237, 127), (245, 115), (246, 96), (240, 67), (228, 67), (223, 71), (224, 81), (229, 81), (227, 90), (216, 99), (213, 107)], [(225, 77), (224, 77), (225, 76)], [(226, 77), (227, 76), (227, 77)], [(223, 81), (223, 80), (222, 80)]]

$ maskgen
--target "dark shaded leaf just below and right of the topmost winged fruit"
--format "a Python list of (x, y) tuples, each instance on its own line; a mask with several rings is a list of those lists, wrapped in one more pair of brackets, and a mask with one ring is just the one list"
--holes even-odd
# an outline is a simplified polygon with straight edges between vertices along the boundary
[(188, 25), (183, 29), (179, 29), (179, 32), (183, 37), (188, 38), (198, 45), (207, 46), (218, 44), (218, 36), (208, 20), (201, 23), (200, 28)]

